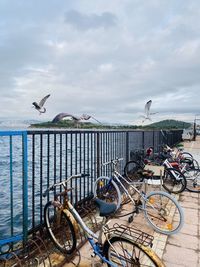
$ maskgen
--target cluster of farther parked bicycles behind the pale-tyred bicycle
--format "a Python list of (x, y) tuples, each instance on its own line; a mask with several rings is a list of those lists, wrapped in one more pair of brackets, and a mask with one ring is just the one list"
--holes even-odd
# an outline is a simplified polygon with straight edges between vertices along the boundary
[(138, 168), (164, 166), (162, 185), (169, 193), (181, 193), (185, 189), (200, 192), (199, 164), (191, 153), (165, 145), (160, 153), (156, 154), (153, 148), (149, 148), (145, 154), (135, 151), (132, 158), (134, 160), (127, 162), (124, 168), (127, 177), (137, 180), (134, 175)]

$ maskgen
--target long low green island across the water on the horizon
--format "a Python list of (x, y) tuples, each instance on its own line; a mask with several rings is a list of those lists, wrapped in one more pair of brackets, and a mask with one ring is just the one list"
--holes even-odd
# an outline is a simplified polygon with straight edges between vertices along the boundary
[(74, 122), (72, 120), (61, 120), (58, 123), (51, 121), (34, 123), (30, 128), (78, 128), (78, 129), (145, 129), (145, 130), (170, 130), (170, 129), (188, 129), (192, 126), (191, 123), (177, 120), (163, 120), (160, 122), (151, 123), (148, 125), (122, 125), (122, 124), (99, 124), (91, 122)]

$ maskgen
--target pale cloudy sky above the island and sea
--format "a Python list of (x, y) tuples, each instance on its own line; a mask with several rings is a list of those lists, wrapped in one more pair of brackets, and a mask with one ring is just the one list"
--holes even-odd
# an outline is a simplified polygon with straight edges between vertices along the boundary
[(0, 118), (141, 124), (151, 99), (152, 122), (194, 121), (199, 18), (198, 0), (0, 0)]

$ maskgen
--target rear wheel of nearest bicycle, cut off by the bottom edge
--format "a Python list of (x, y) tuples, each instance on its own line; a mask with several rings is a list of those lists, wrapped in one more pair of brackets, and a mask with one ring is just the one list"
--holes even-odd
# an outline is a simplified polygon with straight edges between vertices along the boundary
[[(118, 267), (164, 267), (164, 264), (150, 248), (120, 236), (114, 236), (109, 241), (106, 241), (103, 252), (106, 259)], [(108, 263), (108, 266), (112, 265)]]

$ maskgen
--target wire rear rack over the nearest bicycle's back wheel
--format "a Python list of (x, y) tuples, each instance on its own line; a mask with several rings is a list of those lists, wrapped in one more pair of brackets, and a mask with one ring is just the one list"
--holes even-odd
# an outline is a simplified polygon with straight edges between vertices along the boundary
[(108, 238), (119, 236), (134, 241), (140, 245), (153, 246), (154, 237), (135, 227), (115, 223), (112, 227), (108, 227), (105, 230), (105, 234), (108, 235)]

